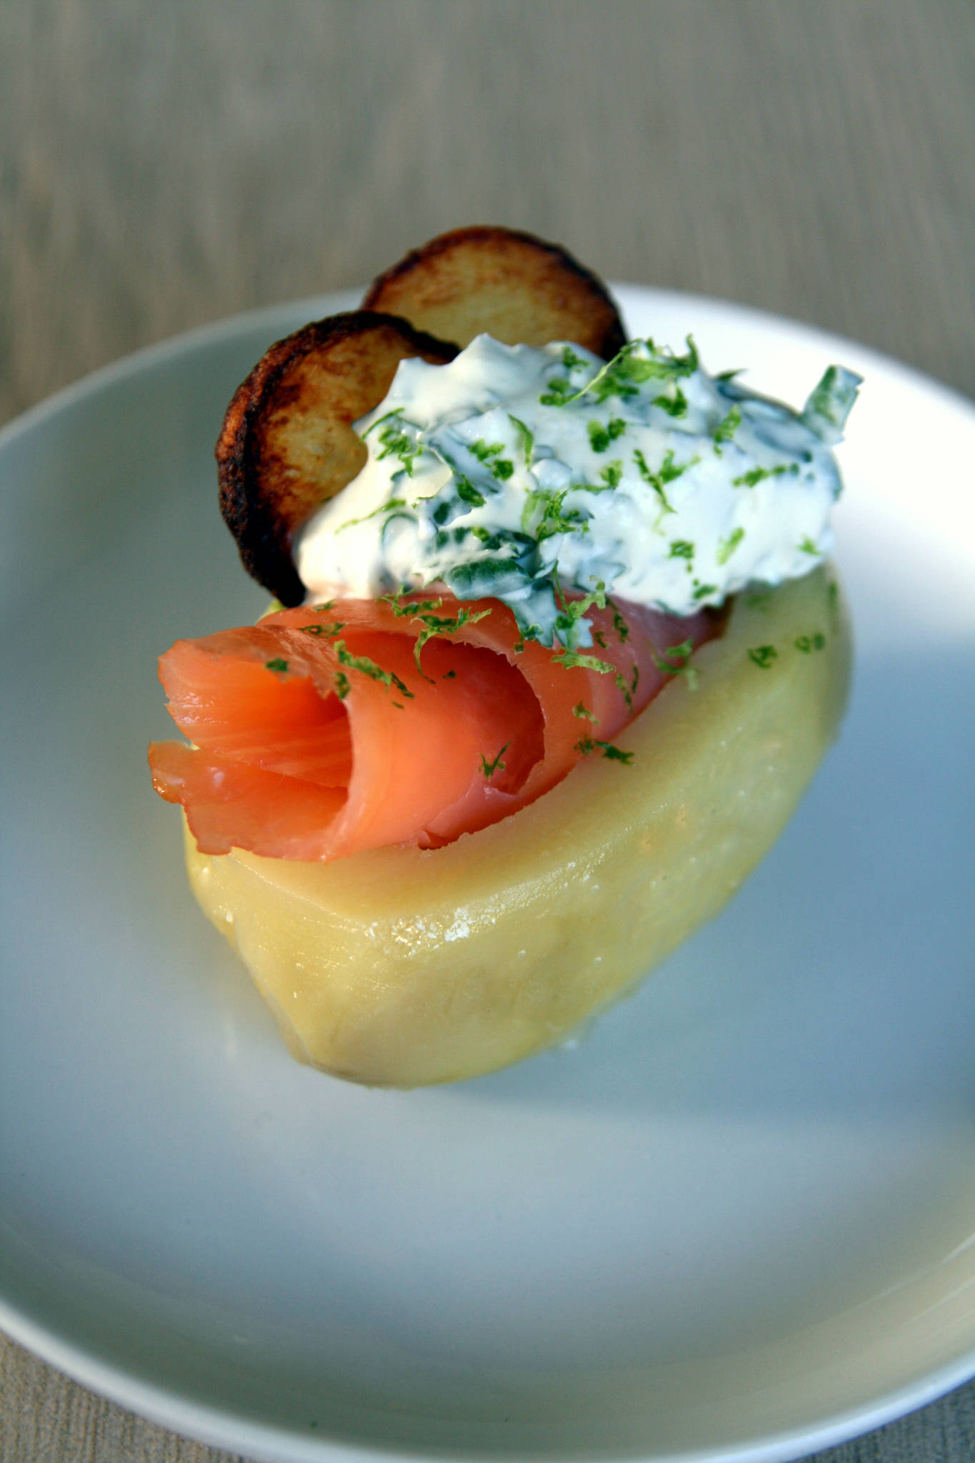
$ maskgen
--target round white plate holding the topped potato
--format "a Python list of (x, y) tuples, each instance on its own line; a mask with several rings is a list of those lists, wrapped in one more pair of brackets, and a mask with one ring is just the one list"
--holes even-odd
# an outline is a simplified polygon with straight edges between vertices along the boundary
[(975, 413), (623, 288), (843, 449), (849, 718), (731, 909), (576, 1049), (417, 1093), (297, 1067), (149, 790), (155, 655), (251, 617), (212, 443), (330, 297), (0, 436), (0, 1325), (259, 1459), (791, 1459), (975, 1372)]

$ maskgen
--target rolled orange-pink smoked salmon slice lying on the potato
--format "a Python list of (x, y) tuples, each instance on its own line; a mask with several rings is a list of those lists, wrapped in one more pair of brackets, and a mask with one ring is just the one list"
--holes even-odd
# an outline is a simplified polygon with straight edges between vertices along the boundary
[(155, 742), (156, 791), (203, 853), (327, 860), (437, 847), (548, 791), (718, 631), (629, 604), (586, 612), (576, 657), (512, 612), (449, 595), (335, 600), (177, 641), (159, 660), (193, 743)]

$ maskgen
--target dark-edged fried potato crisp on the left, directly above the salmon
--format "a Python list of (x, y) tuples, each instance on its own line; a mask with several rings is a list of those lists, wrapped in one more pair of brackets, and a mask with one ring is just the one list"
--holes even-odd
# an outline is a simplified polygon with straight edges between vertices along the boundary
[(247, 572), (282, 604), (306, 594), (297, 530), (365, 461), (352, 423), (379, 405), (401, 360), (456, 354), (408, 320), (352, 310), (278, 341), (237, 388), (216, 442), (221, 514)]

